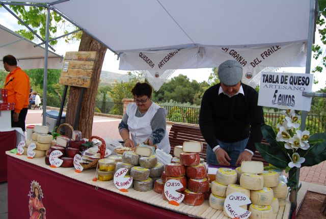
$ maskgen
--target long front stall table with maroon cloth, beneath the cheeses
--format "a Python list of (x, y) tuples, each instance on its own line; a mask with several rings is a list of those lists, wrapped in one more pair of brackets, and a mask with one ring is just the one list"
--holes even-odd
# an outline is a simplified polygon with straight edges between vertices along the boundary
[[(141, 192), (129, 188), (118, 190), (112, 181), (92, 181), (95, 169), (76, 173), (74, 168), (50, 168), (44, 157), (28, 159), (25, 155), (8, 155), (8, 215), (24, 218), (29, 215), (29, 192), (33, 180), (40, 185), (46, 217), (89, 218), (227, 218), (211, 208), (206, 200), (200, 206), (183, 203), (174, 206), (154, 190)], [(30, 195), (32, 196), (32, 195)], [(19, 207), (19, 210), (17, 209)], [(277, 218), (288, 218), (290, 203), (280, 207)]]

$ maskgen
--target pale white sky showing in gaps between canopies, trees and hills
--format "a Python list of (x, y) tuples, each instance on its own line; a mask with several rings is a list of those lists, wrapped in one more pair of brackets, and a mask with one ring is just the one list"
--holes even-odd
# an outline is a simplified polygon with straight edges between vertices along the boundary
[[(0, 8), (0, 24), (6, 26), (6, 28), (16, 31), (19, 29), (23, 29), (23, 26), (17, 24), (17, 19), (13, 17), (6, 9)], [(316, 43), (320, 42), (318, 34), (316, 34)], [(60, 35), (58, 35), (60, 36)], [(320, 43), (321, 44), (321, 43)], [(321, 44), (322, 45), (322, 44)], [(63, 39), (58, 41), (58, 44), (54, 47), (56, 49), (56, 53), (64, 55), (66, 51), (77, 51), (79, 46), (79, 42), (67, 44)], [(326, 48), (325, 48), (326, 49)], [(320, 65), (321, 61), (316, 61), (312, 59), (311, 61), (311, 69), (314, 69), (315, 66)], [(102, 70), (111, 71), (116, 73), (126, 74), (127, 71), (119, 70), (119, 60), (117, 60), (117, 56), (111, 52), (110, 50), (106, 51)], [(280, 72), (286, 71), (291, 73), (305, 73), (305, 68), (281, 68)], [(169, 78), (175, 77), (179, 74), (186, 75), (190, 80), (197, 80), (198, 82), (208, 80), (208, 76), (212, 72), (211, 68), (202, 68), (202, 69), (178, 69), (176, 70)], [(312, 90), (318, 91), (321, 88), (326, 87), (326, 70), (323, 72), (314, 73), (315, 79), (319, 81), (317, 85), (313, 85)]]

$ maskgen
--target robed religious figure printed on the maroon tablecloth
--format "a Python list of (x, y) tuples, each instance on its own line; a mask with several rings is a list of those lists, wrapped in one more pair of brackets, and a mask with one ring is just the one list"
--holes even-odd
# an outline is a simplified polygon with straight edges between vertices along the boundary
[(45, 208), (42, 203), (43, 193), (37, 181), (31, 182), (31, 190), (28, 196), (30, 197), (30, 219), (45, 219)]

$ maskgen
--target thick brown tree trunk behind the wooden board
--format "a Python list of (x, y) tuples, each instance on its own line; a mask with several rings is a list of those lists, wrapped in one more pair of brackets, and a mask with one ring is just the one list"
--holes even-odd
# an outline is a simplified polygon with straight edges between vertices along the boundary
[[(89, 139), (92, 136), (93, 117), (95, 109), (95, 97), (97, 87), (99, 84), (102, 64), (106, 52), (106, 47), (100, 42), (96, 41), (93, 37), (83, 32), (82, 40), (79, 44), (78, 51), (96, 51), (96, 57), (93, 67), (93, 74), (89, 88), (86, 88), (82, 107), (80, 108), (80, 116), (78, 121), (77, 130), (82, 131), (82, 138)], [(69, 100), (66, 113), (66, 123), (73, 126), (77, 112), (78, 100), (82, 88), (70, 87)], [(71, 136), (71, 131), (66, 130), (66, 135)]]

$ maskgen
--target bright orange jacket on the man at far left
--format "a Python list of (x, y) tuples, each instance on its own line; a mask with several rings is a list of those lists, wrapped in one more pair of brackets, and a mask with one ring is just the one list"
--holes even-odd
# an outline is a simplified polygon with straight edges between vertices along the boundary
[(8, 102), (15, 103), (15, 113), (28, 108), (30, 88), (30, 78), (21, 68), (7, 75), (4, 89), (8, 90)]

